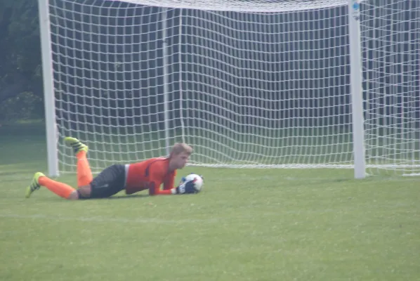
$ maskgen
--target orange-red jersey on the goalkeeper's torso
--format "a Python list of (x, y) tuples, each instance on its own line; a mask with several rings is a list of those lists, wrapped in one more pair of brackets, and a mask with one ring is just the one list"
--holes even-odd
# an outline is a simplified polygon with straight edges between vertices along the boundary
[[(149, 190), (150, 195), (171, 194), (176, 170), (169, 171), (169, 158), (150, 158), (129, 165), (126, 176), (126, 194)], [(160, 185), (164, 184), (164, 190)]]

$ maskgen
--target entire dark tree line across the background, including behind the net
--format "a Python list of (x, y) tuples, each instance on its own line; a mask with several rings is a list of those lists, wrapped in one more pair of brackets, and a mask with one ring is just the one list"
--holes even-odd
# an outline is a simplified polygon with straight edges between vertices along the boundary
[[(420, 4), (386, 4), (379, 10), (374, 6), (383, 6), (381, 1), (365, 3), (365, 100), (374, 97), (373, 102), (383, 105), (375, 113), (386, 115), (395, 110), (394, 103), (413, 103), (412, 92), (420, 91), (413, 83), (420, 77)], [(162, 10), (98, 0), (51, 0), (51, 5), (58, 118), (91, 124), (162, 121)], [(165, 42), (170, 103), (180, 107), (183, 91), (183, 110), (192, 109), (184, 114), (173, 110), (171, 119), (199, 119), (206, 110), (244, 124), (293, 118), (306, 122), (307, 117), (319, 118), (322, 124), (348, 124), (346, 9), (268, 16), (169, 9)], [(378, 11), (389, 13), (378, 17)], [(0, 120), (42, 118), (37, 1), (3, 0), (0, 17)], [(263, 37), (266, 28), (273, 36)], [(399, 40), (405, 43), (389, 43)], [(202, 102), (199, 108), (197, 100)], [(221, 110), (227, 105), (229, 110)], [(413, 106), (419, 117), (417, 100)], [(404, 117), (405, 112), (400, 113)], [(104, 121), (104, 116), (109, 118)]]

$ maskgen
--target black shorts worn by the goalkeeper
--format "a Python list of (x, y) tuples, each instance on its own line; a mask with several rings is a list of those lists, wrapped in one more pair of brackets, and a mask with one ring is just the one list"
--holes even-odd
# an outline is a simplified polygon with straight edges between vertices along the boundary
[(91, 197), (105, 198), (124, 190), (126, 184), (126, 169), (124, 165), (114, 164), (107, 167), (93, 178), (91, 182)]

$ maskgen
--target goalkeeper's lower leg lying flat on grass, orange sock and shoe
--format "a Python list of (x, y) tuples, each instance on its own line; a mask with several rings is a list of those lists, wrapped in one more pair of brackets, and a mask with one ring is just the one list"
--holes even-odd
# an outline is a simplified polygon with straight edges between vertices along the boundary
[(26, 197), (31, 196), (32, 192), (39, 190), (41, 186), (45, 186), (48, 190), (51, 190), (56, 195), (63, 197), (68, 200), (75, 200), (77, 198), (77, 192), (70, 185), (54, 181), (51, 178), (46, 177), (42, 173), (35, 173), (32, 178), (32, 183), (26, 188)]

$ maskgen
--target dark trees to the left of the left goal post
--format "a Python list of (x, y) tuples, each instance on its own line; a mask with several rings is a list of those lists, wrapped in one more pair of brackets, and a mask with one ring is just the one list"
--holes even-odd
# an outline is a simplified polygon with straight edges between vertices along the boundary
[(43, 118), (37, 1), (0, 3), (0, 122)]

